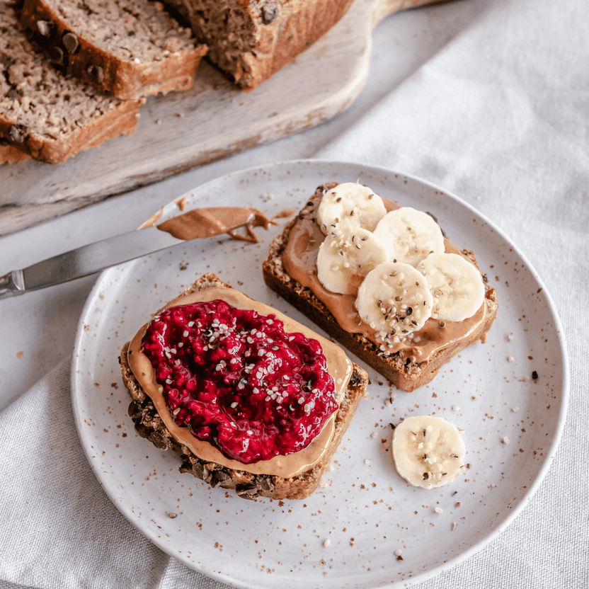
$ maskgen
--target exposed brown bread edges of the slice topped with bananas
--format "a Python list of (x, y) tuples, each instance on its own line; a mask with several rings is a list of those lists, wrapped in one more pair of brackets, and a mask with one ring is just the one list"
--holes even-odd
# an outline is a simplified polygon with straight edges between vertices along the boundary
[[(476, 341), (484, 342), (486, 333), (497, 312), (497, 293), (488, 284), (486, 275), (483, 275), (485, 285), (486, 321), (481, 331), (473, 333), (470, 337), (464, 338), (446, 348), (435, 351), (430, 358), (422, 362), (411, 360), (402, 350), (391, 355), (385, 355), (377, 345), (360, 333), (349, 333), (345, 331), (336, 321), (326, 305), (307, 287), (303, 287), (296, 280), (291, 278), (282, 264), (282, 253), (288, 242), (290, 231), (298, 219), (303, 217), (313, 218), (316, 207), (321, 202), (324, 192), (330, 190), (337, 183), (326, 183), (317, 188), (307, 205), (299, 212), (299, 215), (286, 225), (282, 234), (276, 237), (270, 245), (268, 258), (263, 263), (263, 276), (266, 285), (285, 298), (293, 307), (299, 309), (304, 315), (314, 321), (319, 327), (335, 338), (350, 352), (354, 353), (367, 365), (377, 370), (382, 376), (388, 379), (395, 387), (404, 391), (414, 391), (418, 387), (430, 382), (440, 370), (440, 367), (449, 362), (454, 355), (459, 353), (468, 345)], [(474, 265), (476, 259), (474, 253), (466, 249), (460, 250), (463, 256), (468, 258)], [(476, 265), (476, 268), (479, 268)]]

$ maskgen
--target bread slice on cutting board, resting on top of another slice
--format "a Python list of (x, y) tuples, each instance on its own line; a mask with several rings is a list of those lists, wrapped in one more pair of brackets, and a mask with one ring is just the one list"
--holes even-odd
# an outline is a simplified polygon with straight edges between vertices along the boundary
[(149, 0), (24, 0), (20, 18), (63, 72), (125, 100), (190, 89), (207, 52)]

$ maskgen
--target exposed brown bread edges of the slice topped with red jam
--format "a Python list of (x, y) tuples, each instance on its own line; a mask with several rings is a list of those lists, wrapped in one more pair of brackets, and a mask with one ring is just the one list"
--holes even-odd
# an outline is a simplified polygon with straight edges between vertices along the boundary
[[(208, 273), (188, 287), (181, 296), (216, 286), (229, 287), (229, 285), (219, 280), (217, 276)], [(190, 452), (188, 447), (179, 444), (172, 437), (156, 411), (153, 402), (142, 389), (130, 368), (127, 361), (129, 345), (129, 342), (125, 343), (121, 350), (120, 366), (123, 382), (132, 398), (129, 415), (135, 423), (137, 433), (150, 440), (157, 448), (172, 450), (172, 452), (178, 454), (181, 460), (181, 472), (189, 472), (198, 479), (206, 481), (213, 488), (235, 489), (238, 496), (245, 499), (255, 499), (261, 496), (273, 499), (304, 499), (311, 495), (340, 445), (356, 408), (358, 408), (360, 399), (366, 395), (367, 374), (362, 368), (354, 364), (353, 374), (345, 391), (345, 397), (336, 414), (335, 433), (321, 461), (309, 471), (290, 479), (282, 479), (279, 476), (268, 474), (251, 474), (246, 471), (229, 469), (215, 462), (205, 462), (195, 456), (193, 452)]]

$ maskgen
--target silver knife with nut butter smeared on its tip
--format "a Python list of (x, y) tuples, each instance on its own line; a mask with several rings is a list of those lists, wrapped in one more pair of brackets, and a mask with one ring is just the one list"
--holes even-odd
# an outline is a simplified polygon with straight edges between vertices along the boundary
[[(234, 239), (255, 242), (258, 240), (252, 228), (268, 229), (270, 223), (261, 212), (242, 207), (194, 209), (155, 225), (157, 217), (137, 231), (96, 241), (0, 276), (0, 299), (82, 278), (190, 239), (227, 233)], [(235, 232), (240, 227), (246, 228), (245, 236)]]

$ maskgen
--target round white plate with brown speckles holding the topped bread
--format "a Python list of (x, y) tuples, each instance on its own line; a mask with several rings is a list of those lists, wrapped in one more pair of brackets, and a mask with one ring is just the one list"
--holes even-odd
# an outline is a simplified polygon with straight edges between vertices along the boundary
[[(335, 469), (324, 476), (327, 486), (311, 498), (245, 501), (180, 474), (171, 452), (135, 434), (117, 362), (122, 345), (149, 315), (207, 271), (312, 325), (262, 280), (261, 262), (282, 223), (267, 232), (256, 229), (260, 244), (224, 237), (193, 241), (112, 268), (98, 279), (81, 316), (72, 396), (96, 476), (154, 544), (236, 587), (376, 588), (435, 576), (505, 529), (542, 481), (559, 442), (568, 362), (556, 311), (517, 247), (466, 203), (417, 178), (326, 161), (232, 173), (193, 190), (187, 203), (248, 204), (275, 215), (299, 210), (320, 183), (357, 178), (386, 198), (438, 217), (455, 244), (476, 253), (500, 306), (486, 344), (464, 350), (413, 393), (394, 389), (390, 406), (384, 404), (389, 386), (369, 371), (370, 398), (360, 404)], [(168, 215), (177, 211), (173, 203), (166, 207)], [(411, 487), (396, 474), (386, 442), (389, 423), (426, 413), (464, 428), (468, 450), (464, 476), (433, 491)], [(510, 443), (501, 441), (505, 437)], [(443, 513), (435, 513), (438, 507)], [(397, 549), (404, 560), (394, 556)]]

